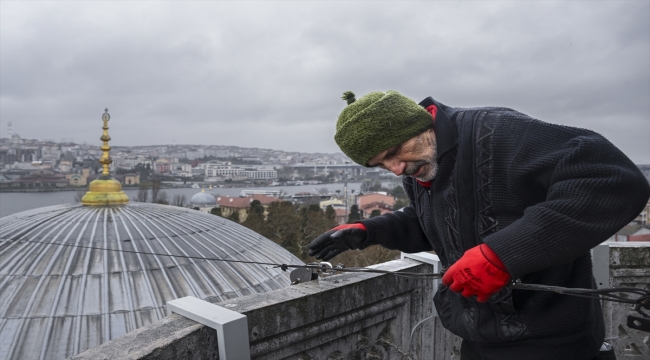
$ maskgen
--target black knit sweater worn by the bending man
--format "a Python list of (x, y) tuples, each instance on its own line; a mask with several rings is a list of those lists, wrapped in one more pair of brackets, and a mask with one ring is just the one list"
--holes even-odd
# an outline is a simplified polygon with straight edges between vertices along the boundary
[[(429, 191), (404, 178), (411, 205), (362, 220), (366, 245), (435, 250), (449, 266), (484, 242), (513, 279), (594, 287), (589, 249), (633, 220), (650, 197), (638, 168), (588, 130), (544, 123), (510, 109), (454, 109), (430, 98), (421, 105), (431, 103), (441, 110), (435, 126), (436, 179)], [(478, 129), (481, 124), (488, 124), (487, 130)], [(481, 151), (484, 160), (477, 161)], [(487, 359), (591, 359), (597, 354), (604, 337), (597, 301), (523, 290), (508, 296), (513, 308), (503, 310), (503, 302), (479, 304), (441, 286), (436, 306), (443, 324), (447, 321), (445, 326)]]

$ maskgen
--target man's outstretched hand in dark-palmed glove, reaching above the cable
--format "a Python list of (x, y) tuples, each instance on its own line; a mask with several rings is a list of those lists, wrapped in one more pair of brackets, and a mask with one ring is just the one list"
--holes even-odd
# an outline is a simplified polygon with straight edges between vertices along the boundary
[(327, 261), (344, 251), (360, 248), (366, 235), (366, 227), (361, 223), (339, 225), (309, 244), (309, 256)]

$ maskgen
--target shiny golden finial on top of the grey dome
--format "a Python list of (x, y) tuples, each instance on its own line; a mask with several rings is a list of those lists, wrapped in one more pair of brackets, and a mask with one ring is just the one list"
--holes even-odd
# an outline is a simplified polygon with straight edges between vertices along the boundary
[(102, 115), (104, 133), (99, 138), (104, 142), (100, 147), (103, 153), (99, 159), (99, 163), (103, 166), (102, 175), (90, 183), (88, 192), (81, 199), (81, 203), (84, 205), (113, 205), (129, 202), (129, 197), (122, 191), (122, 185), (111, 177), (109, 170), (109, 165), (113, 162), (109, 154), (111, 147), (108, 146), (108, 142), (111, 140), (108, 135), (108, 120), (110, 119), (111, 116), (108, 114), (107, 108), (104, 110), (104, 115)]

